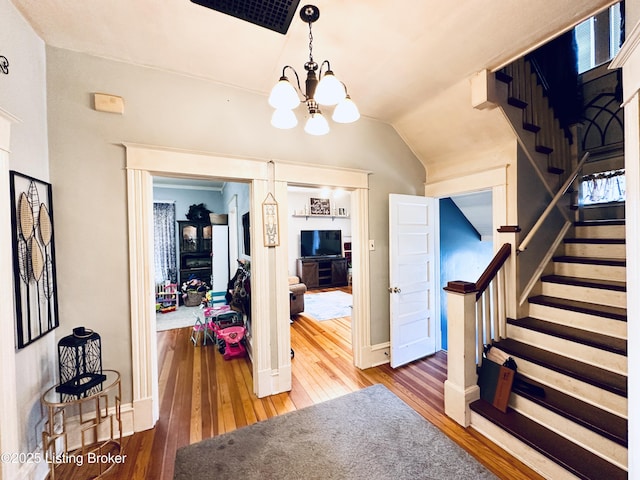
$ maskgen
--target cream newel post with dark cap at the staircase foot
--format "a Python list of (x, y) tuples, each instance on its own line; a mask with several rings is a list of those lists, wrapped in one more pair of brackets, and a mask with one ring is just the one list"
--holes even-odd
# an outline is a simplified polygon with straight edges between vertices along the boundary
[(447, 291), (448, 353), (444, 411), (463, 427), (471, 423), (469, 404), (480, 398), (476, 373), (476, 285), (455, 281)]

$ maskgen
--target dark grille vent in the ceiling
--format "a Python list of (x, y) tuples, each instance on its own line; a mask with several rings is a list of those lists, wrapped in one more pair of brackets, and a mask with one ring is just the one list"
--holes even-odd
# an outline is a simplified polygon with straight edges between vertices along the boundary
[(193, 3), (246, 20), (283, 35), (289, 30), (300, 0), (191, 0)]

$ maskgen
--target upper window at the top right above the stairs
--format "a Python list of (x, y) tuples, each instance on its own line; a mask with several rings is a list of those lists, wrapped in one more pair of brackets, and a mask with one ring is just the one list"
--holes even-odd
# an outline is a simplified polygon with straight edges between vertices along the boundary
[(578, 73), (608, 62), (620, 50), (620, 4), (617, 3), (575, 28)]

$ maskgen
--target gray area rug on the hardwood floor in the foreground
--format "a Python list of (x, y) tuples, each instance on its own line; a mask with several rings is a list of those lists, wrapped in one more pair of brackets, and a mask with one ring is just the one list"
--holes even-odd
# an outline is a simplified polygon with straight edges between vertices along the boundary
[(495, 479), (383, 385), (180, 448), (174, 480)]

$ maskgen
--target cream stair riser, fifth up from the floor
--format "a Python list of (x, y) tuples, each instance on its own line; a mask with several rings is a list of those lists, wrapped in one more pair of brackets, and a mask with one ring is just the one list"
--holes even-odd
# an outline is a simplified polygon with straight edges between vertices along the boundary
[(539, 318), (540, 320), (548, 320), (568, 327), (581, 328), (589, 332), (601, 333), (617, 338), (627, 338), (627, 322), (620, 320), (572, 312), (561, 308), (537, 305), (535, 303), (529, 305), (529, 315), (534, 318)]

